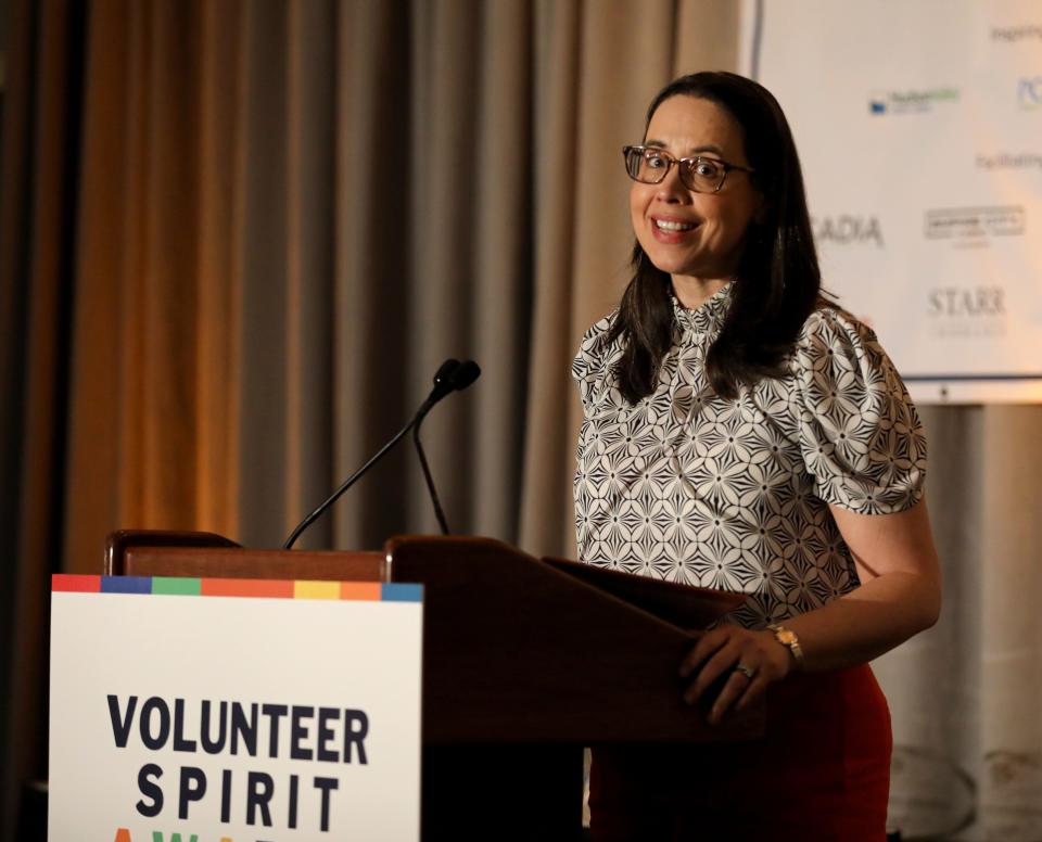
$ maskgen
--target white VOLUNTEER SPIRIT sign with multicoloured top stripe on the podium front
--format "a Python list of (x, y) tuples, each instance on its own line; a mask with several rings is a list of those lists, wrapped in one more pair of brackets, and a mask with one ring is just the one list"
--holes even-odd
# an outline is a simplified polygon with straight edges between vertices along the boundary
[(48, 838), (418, 840), (421, 600), (55, 575)]

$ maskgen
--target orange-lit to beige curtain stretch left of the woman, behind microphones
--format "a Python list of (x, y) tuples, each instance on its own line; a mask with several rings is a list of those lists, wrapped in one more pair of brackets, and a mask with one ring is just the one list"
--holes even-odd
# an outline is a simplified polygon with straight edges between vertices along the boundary
[[(675, 71), (735, 64), (736, 11), (91, 10), (67, 567), (116, 526), (278, 545), (448, 356), (484, 372), (424, 425), (449, 523), (570, 552), (568, 367), (625, 282), (619, 148)], [(304, 546), (434, 530), (402, 448)]]

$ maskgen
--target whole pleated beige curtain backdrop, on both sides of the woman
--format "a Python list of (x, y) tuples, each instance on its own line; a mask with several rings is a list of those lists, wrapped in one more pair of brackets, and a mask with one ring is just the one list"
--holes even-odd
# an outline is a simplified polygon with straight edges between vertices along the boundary
[[(45, 124), (59, 128), (40, 135), (40, 178), (22, 205), (10, 190), (22, 183), (12, 132), (4, 138), (4, 307), (31, 289), (39, 322), (31, 335), (0, 337), (0, 372), (31, 386), (2, 431), (3, 452), (21, 448), (16, 474), (27, 477), (8, 483), (20, 539), (9, 576), (17, 587), (3, 603), (4, 828), (18, 782), (43, 765), (49, 570), (98, 571), (117, 527), (278, 546), (405, 423), (445, 357), (473, 357), (484, 371), (423, 429), (450, 525), (573, 553), (580, 408), (569, 365), (627, 276), (619, 148), (639, 137), (647, 102), (672, 76), (737, 66), (738, 7), (87, 5), (87, 26), (72, 28), (73, 39), (88, 34), (72, 196), (51, 183), (62, 174), (61, 84)], [(56, 50), (65, 4), (40, 9)], [(45, 35), (12, 33), (37, 43)], [(23, 271), (9, 259), (15, 212), (55, 202), (71, 208), (72, 245), (40, 240), (35, 270)], [(63, 254), (67, 289), (47, 269)], [(1008, 798), (1020, 808), (1042, 802), (1031, 778), (1042, 742), (1031, 713), (1042, 674), (1032, 600), (1042, 418), (1035, 408), (925, 414), (948, 603), (938, 628), (880, 673), (903, 745), (955, 757), (975, 781), (999, 781), (1006, 754), (1019, 752), (1024, 774), (1011, 786), (1020, 794)], [(29, 479), (40, 476), (49, 484)], [(42, 514), (48, 494), (58, 528)], [(302, 546), (377, 547), (434, 528), (402, 447)], [(958, 705), (938, 693), (941, 679), (957, 685)], [(1007, 749), (1002, 766), (994, 752)], [(895, 777), (898, 806), (922, 824), (908, 780)]]

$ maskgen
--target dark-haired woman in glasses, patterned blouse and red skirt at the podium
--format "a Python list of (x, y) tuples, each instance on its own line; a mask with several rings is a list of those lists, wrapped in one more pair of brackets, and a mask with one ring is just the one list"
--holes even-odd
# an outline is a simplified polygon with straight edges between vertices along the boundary
[[(740, 591), (678, 665), (762, 740), (594, 751), (595, 840), (882, 840), (886, 700), (867, 662), (932, 625), (926, 443), (873, 332), (823, 296), (772, 94), (684, 76), (623, 150), (633, 278), (573, 366), (583, 561)], [(634, 712), (639, 716), (639, 712)]]

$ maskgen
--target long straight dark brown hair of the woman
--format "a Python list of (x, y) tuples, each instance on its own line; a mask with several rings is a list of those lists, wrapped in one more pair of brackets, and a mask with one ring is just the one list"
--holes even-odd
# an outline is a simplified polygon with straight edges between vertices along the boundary
[[(645, 132), (659, 105), (672, 97), (709, 100), (735, 118), (754, 170), (750, 178), (764, 196), (763, 212), (746, 232), (730, 307), (706, 360), (713, 388), (734, 398), (739, 384), (783, 374), (782, 361), (821, 298), (803, 175), (782, 106), (762, 85), (733, 73), (682, 76), (651, 101)], [(623, 340), (619, 388), (635, 404), (655, 392), (672, 343), (673, 307), (669, 273), (652, 265), (639, 242), (632, 266), (633, 278), (605, 341)]]

